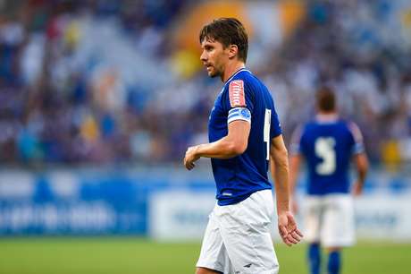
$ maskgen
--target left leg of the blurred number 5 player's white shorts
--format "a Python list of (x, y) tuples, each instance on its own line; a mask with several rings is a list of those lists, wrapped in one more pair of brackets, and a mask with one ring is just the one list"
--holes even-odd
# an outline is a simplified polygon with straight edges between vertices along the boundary
[(304, 201), (304, 238), (309, 243), (320, 241), (323, 218), (323, 197), (306, 196)]

